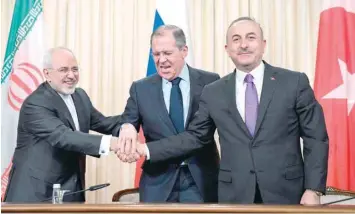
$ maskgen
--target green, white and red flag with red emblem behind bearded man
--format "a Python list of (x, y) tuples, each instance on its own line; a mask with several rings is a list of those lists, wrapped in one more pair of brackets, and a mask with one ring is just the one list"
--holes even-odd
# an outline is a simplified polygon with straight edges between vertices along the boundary
[[(26, 14), (21, 14), (30, 9)], [(16, 147), (19, 110), (23, 101), (43, 82), (43, 12), (41, 0), (21, 1), (15, 4), (13, 19), (20, 20), (17, 29), (11, 29), (2, 69), (1, 84), (1, 191), (8, 183), (12, 156)], [(11, 47), (13, 45), (14, 47)], [(5, 78), (6, 77), (6, 78)]]

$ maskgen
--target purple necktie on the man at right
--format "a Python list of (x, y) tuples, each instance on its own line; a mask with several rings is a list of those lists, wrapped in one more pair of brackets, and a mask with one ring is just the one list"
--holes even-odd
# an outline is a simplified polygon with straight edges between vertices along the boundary
[(245, 90), (245, 124), (252, 136), (254, 136), (258, 115), (258, 92), (256, 91), (253, 79), (254, 77), (251, 74), (247, 74), (244, 79), (244, 82), (247, 84)]

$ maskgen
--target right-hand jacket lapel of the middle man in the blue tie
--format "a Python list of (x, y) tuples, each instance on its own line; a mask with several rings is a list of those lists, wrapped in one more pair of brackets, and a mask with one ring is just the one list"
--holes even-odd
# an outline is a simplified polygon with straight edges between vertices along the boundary
[(188, 66), (190, 75), (190, 105), (186, 117), (185, 128), (189, 125), (191, 117), (198, 108), (198, 100), (204, 87), (204, 82), (200, 74), (195, 69)]

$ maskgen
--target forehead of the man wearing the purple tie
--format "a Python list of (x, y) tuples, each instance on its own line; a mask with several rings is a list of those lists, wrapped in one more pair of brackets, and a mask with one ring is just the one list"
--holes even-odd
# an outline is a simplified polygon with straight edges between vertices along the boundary
[(228, 29), (228, 37), (239, 35), (245, 36), (247, 34), (254, 33), (256, 35), (261, 35), (260, 26), (256, 22), (250, 20), (242, 20), (234, 23)]

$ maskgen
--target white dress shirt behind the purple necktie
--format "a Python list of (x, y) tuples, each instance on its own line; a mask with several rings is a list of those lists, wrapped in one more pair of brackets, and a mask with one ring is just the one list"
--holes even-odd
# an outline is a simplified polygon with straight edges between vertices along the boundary
[[(249, 72), (249, 74), (251, 74), (254, 77), (253, 82), (256, 87), (256, 91), (258, 93), (259, 103), (260, 103), (261, 90), (263, 87), (264, 69), (265, 69), (264, 63), (261, 62), (258, 67), (256, 67), (254, 70)], [(244, 79), (247, 74), (248, 73), (244, 71), (240, 71), (236, 69), (236, 75), (235, 75), (236, 99), (235, 100), (236, 100), (239, 114), (242, 117), (244, 122), (245, 122), (245, 90), (247, 87), (247, 84), (246, 82), (244, 82)]]

